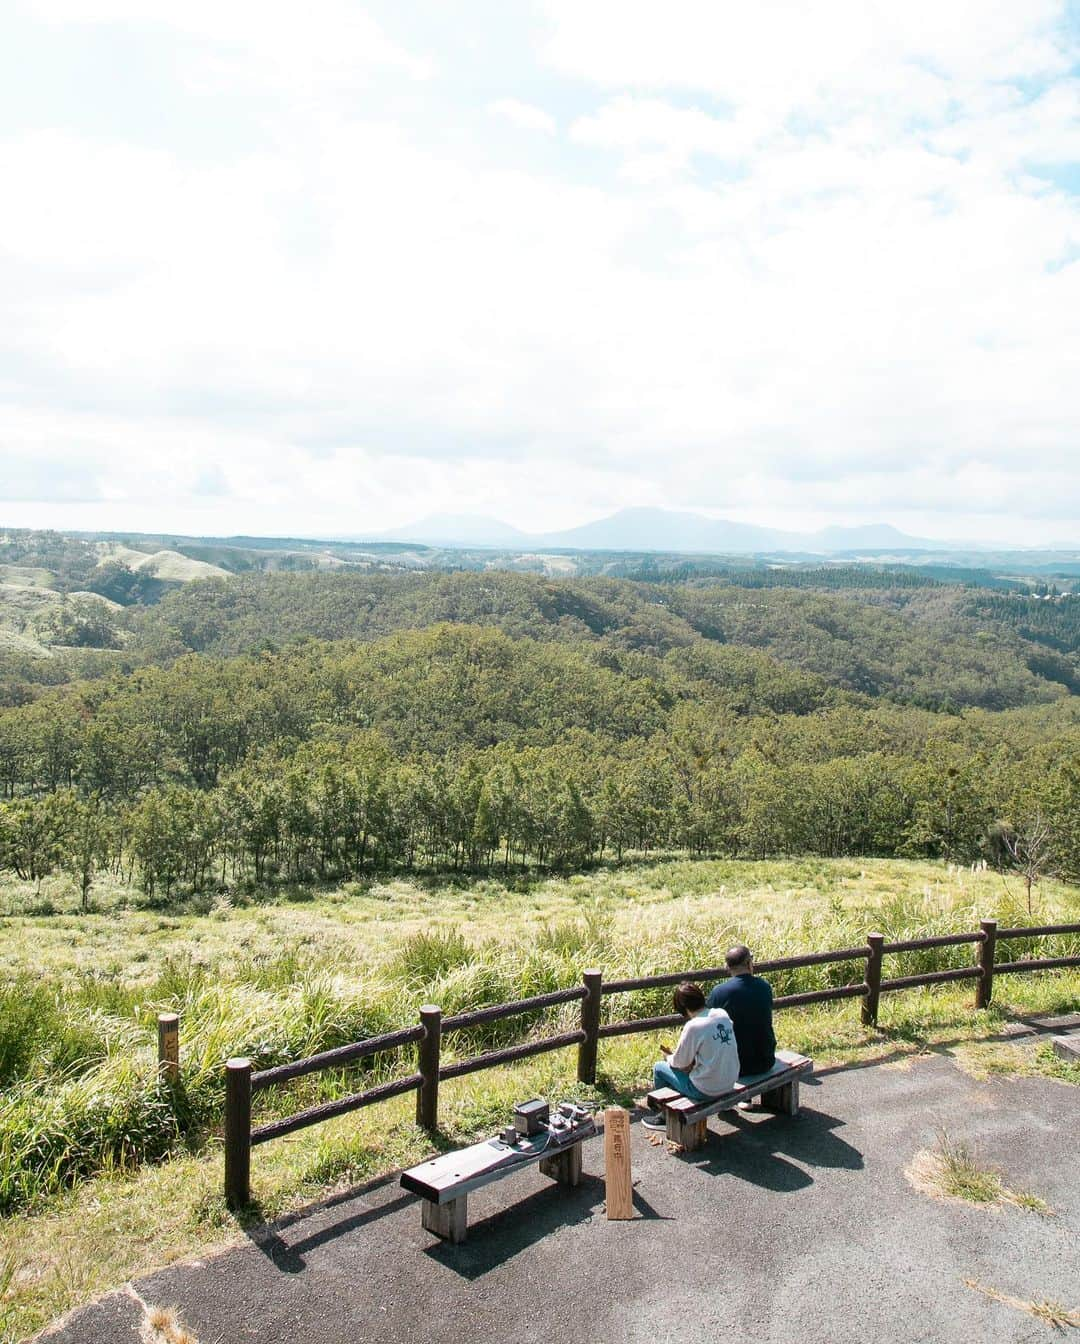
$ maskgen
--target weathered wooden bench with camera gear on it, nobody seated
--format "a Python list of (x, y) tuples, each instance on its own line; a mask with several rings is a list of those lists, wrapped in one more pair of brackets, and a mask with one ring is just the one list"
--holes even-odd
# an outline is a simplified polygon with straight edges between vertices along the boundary
[(595, 1124), (588, 1120), (574, 1126), (566, 1142), (552, 1141), (547, 1133), (505, 1144), (489, 1138), (471, 1148), (443, 1153), (402, 1172), (402, 1185), (422, 1195), (420, 1223), (429, 1232), (459, 1245), (469, 1222), (469, 1191), (502, 1180), (523, 1167), (539, 1164), (540, 1171), (560, 1185), (579, 1185), (582, 1180), (582, 1141), (592, 1138)]

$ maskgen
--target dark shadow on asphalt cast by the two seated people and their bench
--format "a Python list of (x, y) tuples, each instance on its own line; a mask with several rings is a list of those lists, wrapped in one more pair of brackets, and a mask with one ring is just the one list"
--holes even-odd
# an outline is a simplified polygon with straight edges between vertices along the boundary
[(803, 1167), (862, 1171), (862, 1153), (834, 1133), (844, 1121), (826, 1111), (809, 1107), (802, 1107), (798, 1116), (723, 1111), (721, 1121), (729, 1132), (711, 1129), (704, 1149), (678, 1153), (678, 1160), (711, 1176), (735, 1176), (780, 1193), (814, 1184)]

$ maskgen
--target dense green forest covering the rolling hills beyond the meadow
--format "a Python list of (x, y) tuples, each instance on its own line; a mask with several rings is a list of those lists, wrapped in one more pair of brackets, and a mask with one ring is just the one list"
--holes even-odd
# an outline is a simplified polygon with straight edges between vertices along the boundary
[(0, 871), (83, 903), (661, 849), (1080, 875), (1080, 598), (873, 574), (177, 586), (7, 656)]

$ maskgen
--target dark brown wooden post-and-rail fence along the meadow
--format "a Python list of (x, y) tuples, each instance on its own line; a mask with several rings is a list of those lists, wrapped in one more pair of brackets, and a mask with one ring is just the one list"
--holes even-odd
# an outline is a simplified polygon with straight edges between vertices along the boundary
[[(805, 966), (827, 966), (840, 962), (862, 961), (865, 962), (865, 980), (852, 981), (846, 985), (833, 985), (826, 989), (779, 995), (774, 999), (772, 1007), (775, 1009), (784, 1009), (799, 1008), (806, 1004), (829, 1003), (831, 1000), (861, 999), (860, 1011), (862, 1021), (868, 1025), (876, 1025), (879, 999), (883, 993), (913, 989), (923, 985), (974, 980), (975, 1007), (986, 1008), (993, 996), (995, 974), (1080, 966), (1080, 956), (1026, 957), (1013, 961), (995, 961), (995, 949), (999, 942), (1063, 934), (1080, 934), (1080, 923), (1038, 925), (1030, 929), (998, 929), (995, 921), (983, 919), (979, 929), (971, 933), (938, 934), (930, 938), (904, 938), (895, 942), (885, 942), (883, 934), (870, 933), (866, 935), (864, 946), (840, 948), (834, 952), (810, 952), (795, 957), (778, 957), (772, 961), (758, 962), (755, 969), (768, 973), (798, 970)], [(956, 966), (950, 970), (928, 970), (921, 974), (899, 976), (891, 980), (883, 978), (883, 958), (885, 956), (924, 952), (934, 948), (962, 946), (963, 943), (973, 943), (975, 946), (975, 961), (970, 966)], [(367, 1040), (339, 1046), (334, 1050), (324, 1050), (306, 1059), (275, 1064), (271, 1068), (253, 1071), (250, 1059), (230, 1059), (226, 1064), (226, 1200), (231, 1208), (240, 1208), (250, 1202), (253, 1146), (266, 1144), (271, 1138), (291, 1134), (298, 1129), (306, 1129), (309, 1125), (318, 1125), (325, 1120), (333, 1120), (336, 1116), (345, 1116), (364, 1106), (388, 1101), (392, 1097), (402, 1097), (415, 1091), (416, 1122), (424, 1129), (437, 1130), (439, 1083), (451, 1078), (463, 1078), (467, 1074), (481, 1073), (485, 1068), (497, 1068), (502, 1064), (514, 1063), (519, 1059), (531, 1059), (535, 1055), (547, 1054), (552, 1050), (566, 1050), (576, 1046), (578, 1079), (583, 1083), (595, 1083), (596, 1055), (600, 1040), (635, 1035), (638, 1032), (664, 1031), (672, 1027), (681, 1027), (684, 1023), (684, 1017), (674, 1012), (653, 1017), (633, 1017), (625, 1021), (604, 1023), (600, 1020), (604, 996), (664, 989), (670, 985), (678, 985), (685, 980), (709, 982), (724, 980), (727, 976), (727, 966), (711, 966), (704, 970), (664, 972), (656, 976), (604, 980), (600, 970), (591, 969), (583, 973), (580, 985), (555, 989), (551, 993), (535, 995), (531, 999), (520, 999), (514, 1003), (490, 1004), (469, 1012), (453, 1013), (449, 1017), (442, 1016), (442, 1009), (438, 1005), (424, 1004), (420, 1008), (418, 1025), (384, 1032), (380, 1036), (371, 1036)], [(532, 1013), (545, 1012), (551, 1008), (572, 1003), (580, 1004), (580, 1024), (574, 1031), (561, 1031), (556, 1035), (504, 1046), (498, 1050), (471, 1055), (467, 1059), (455, 1059), (447, 1063), (443, 1063), (441, 1059), (445, 1032), (467, 1032), (489, 1023), (502, 1021), (509, 1017), (528, 1017)], [(163, 1079), (173, 1082), (179, 1077), (180, 1067), (177, 1027), (175, 1015), (163, 1015), (159, 1020), (159, 1067)], [(290, 1083), (309, 1074), (347, 1068), (364, 1059), (373, 1059), (376, 1055), (394, 1054), (407, 1046), (416, 1047), (416, 1067), (414, 1073), (406, 1074), (403, 1078), (380, 1082), (349, 1097), (320, 1102), (316, 1106), (309, 1106), (305, 1110), (298, 1110), (291, 1116), (269, 1121), (253, 1129), (253, 1094)]]

